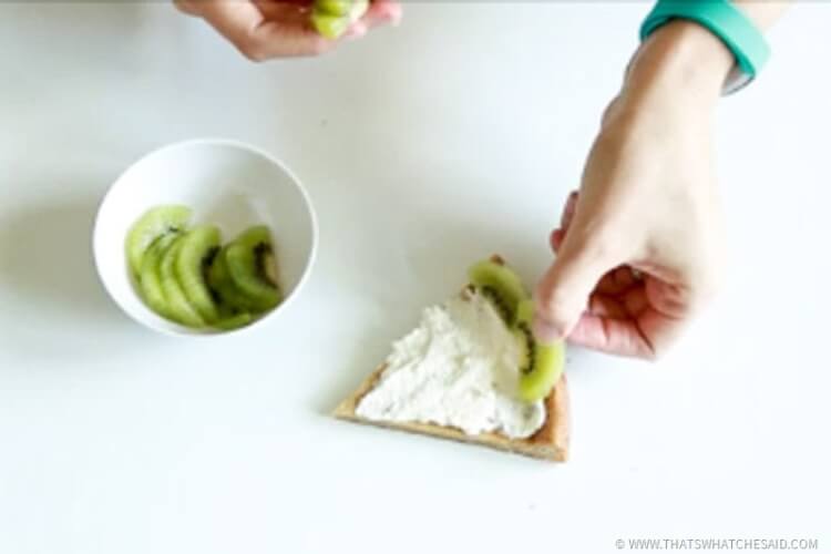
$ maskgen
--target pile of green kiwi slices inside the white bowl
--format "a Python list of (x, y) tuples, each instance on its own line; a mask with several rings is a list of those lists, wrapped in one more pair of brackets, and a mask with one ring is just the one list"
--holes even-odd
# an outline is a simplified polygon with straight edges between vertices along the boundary
[(127, 263), (146, 305), (186, 327), (235, 329), (280, 304), (268, 227), (250, 227), (223, 246), (218, 227), (188, 226), (192, 214), (157, 206), (127, 233)]

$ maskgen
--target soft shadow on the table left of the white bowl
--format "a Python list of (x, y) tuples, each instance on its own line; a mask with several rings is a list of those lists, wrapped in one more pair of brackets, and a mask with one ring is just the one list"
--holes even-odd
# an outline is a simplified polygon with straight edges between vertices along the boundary
[[(32, 355), (126, 325), (95, 274), (92, 227), (99, 198), (81, 197), (20, 209), (0, 219), (0, 286), (11, 347)], [(89, 342), (88, 342), (89, 341)]]

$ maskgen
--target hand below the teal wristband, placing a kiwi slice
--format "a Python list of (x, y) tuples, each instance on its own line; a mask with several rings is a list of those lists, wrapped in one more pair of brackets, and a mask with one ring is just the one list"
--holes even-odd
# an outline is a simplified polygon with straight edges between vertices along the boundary
[(689, 25), (656, 32), (604, 115), (581, 193), (551, 237), (557, 257), (536, 290), (541, 339), (655, 358), (716, 289), (711, 120), (731, 59)]

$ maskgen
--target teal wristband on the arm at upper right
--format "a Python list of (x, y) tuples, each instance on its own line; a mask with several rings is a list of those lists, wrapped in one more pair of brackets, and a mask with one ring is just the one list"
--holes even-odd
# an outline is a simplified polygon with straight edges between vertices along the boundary
[(673, 19), (695, 21), (721, 39), (732, 52), (739, 74), (728, 81), (738, 82), (728, 82), (725, 92), (733, 92), (756, 79), (770, 58), (765, 35), (729, 0), (658, 0), (640, 25), (640, 40)]

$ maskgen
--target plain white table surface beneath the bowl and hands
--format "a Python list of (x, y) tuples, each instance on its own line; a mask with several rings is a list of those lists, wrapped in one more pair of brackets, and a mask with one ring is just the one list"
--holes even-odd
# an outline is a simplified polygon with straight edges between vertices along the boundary
[[(0, 552), (830, 552), (828, 3), (720, 109), (718, 301), (658, 365), (571, 351), (568, 463), (327, 416), (470, 261), (541, 275), (647, 8), (411, 4), (257, 65), (164, 2), (0, 3)], [(320, 255), (284, 318), (172, 339), (105, 296), (91, 225), (126, 165), (205, 135), (300, 175)]]

